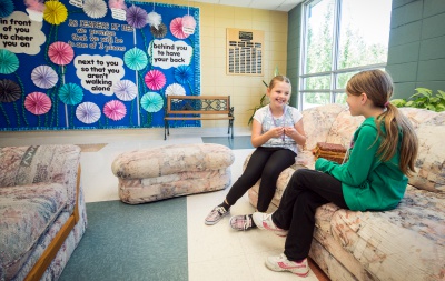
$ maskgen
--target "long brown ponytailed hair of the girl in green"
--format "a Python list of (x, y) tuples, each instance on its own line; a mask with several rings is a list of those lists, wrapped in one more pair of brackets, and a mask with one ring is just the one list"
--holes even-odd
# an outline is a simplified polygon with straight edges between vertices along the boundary
[[(366, 93), (374, 107), (386, 108), (376, 118), (378, 134), (382, 137), (377, 154), (382, 161), (388, 161), (397, 151), (399, 132), (402, 132), (399, 168), (404, 174), (415, 172), (415, 161), (418, 151), (418, 140), (414, 128), (403, 113), (389, 102), (393, 96), (393, 79), (382, 70), (367, 70), (353, 76), (346, 86), (349, 94), (359, 96)], [(382, 123), (385, 131), (382, 130)]]

